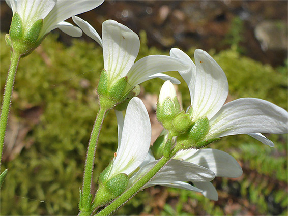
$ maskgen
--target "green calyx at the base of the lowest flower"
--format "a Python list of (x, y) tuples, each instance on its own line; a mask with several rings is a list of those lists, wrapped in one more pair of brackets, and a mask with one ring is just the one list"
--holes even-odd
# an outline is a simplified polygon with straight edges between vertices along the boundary
[(94, 206), (103, 206), (120, 196), (126, 190), (128, 182), (128, 175), (119, 173), (107, 182), (100, 184), (95, 196)]

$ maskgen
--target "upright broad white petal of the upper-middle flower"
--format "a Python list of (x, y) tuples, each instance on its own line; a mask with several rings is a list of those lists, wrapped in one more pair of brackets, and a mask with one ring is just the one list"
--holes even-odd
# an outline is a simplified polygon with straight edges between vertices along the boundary
[(102, 39), (104, 68), (109, 78), (125, 77), (138, 55), (139, 37), (125, 25), (107, 20), (102, 24)]

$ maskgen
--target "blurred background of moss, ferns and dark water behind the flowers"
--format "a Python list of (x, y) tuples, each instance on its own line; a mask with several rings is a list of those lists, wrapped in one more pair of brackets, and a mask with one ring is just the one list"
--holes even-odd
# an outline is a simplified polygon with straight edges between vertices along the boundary
[[(0, 2), (1, 97), (9, 68), (12, 11)], [(193, 58), (208, 51), (229, 82), (227, 101), (240, 97), (268, 100), (287, 110), (287, 1), (105, 1), (79, 15), (101, 35), (101, 24), (114, 19), (134, 30), (141, 41), (137, 59), (168, 54), (178, 47)], [(68, 20), (72, 23), (72, 20)], [(54, 30), (31, 55), (21, 59), (16, 75), (2, 170), (3, 215), (75, 215), (78, 189), (98, 102), (102, 49), (83, 35), (71, 38)], [(169, 73), (181, 80), (177, 73)], [(141, 85), (153, 127), (156, 99), (163, 81)], [(188, 88), (178, 86), (183, 107)], [(138, 193), (119, 215), (287, 215), (287, 135), (269, 135), (270, 148), (245, 135), (212, 143), (231, 153), (243, 168), (237, 179), (216, 178), (219, 200), (164, 187)], [(153, 142), (153, 141), (152, 141)], [(104, 121), (95, 161), (94, 186), (117, 148), (113, 111)], [(93, 188), (95, 191), (95, 188)]]

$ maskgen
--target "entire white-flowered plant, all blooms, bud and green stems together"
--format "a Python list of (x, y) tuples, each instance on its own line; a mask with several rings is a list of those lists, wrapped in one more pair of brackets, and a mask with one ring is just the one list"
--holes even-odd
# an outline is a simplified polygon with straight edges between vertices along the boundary
[[(273, 142), (262, 133), (288, 132), (288, 112), (275, 104), (256, 98), (241, 98), (225, 104), (226, 75), (207, 52), (195, 50), (195, 64), (177, 48), (172, 48), (170, 55), (150, 55), (135, 62), (140, 40), (131, 29), (106, 20), (102, 23), (101, 38), (87, 21), (75, 16), (98, 7), (104, 0), (6, 2), (13, 11), (10, 32), (6, 35), (12, 50), (9, 72), (12, 75), (8, 77), (15, 77), (20, 57), (30, 54), (55, 28), (74, 37), (80, 37), (83, 31), (103, 48), (104, 68), (97, 88), (100, 110), (88, 147), (79, 215), (91, 215), (105, 205), (107, 208), (99, 215), (111, 214), (140, 189), (154, 185), (200, 192), (217, 200), (211, 181), (216, 176), (239, 177), (242, 168), (228, 153), (204, 147), (221, 137), (237, 134), (248, 134), (272, 147)], [(79, 27), (64, 21), (70, 17)], [(181, 108), (173, 84), (180, 81), (163, 74), (168, 71), (178, 71), (188, 85), (191, 105), (186, 111)], [(149, 115), (143, 102), (134, 96), (139, 94), (140, 83), (153, 78), (166, 80), (157, 101), (157, 120), (164, 130), (150, 146)], [(14, 78), (8, 81), (0, 122), (1, 149)], [(98, 191), (93, 199), (90, 189), (98, 136), (105, 115), (113, 108), (118, 121), (118, 148), (99, 176)], [(0, 186), (6, 173), (0, 175)]]

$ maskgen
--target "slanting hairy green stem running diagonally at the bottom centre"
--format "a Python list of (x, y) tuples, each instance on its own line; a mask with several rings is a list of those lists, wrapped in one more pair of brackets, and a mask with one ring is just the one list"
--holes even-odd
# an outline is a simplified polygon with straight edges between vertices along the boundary
[[(168, 140), (172, 140), (172, 136), (168, 136)], [(167, 140), (167, 141), (168, 141)], [(175, 151), (173, 151), (169, 157), (162, 157), (155, 166), (149, 170), (145, 175), (143, 175), (133, 186), (131, 186), (127, 191), (125, 191), (121, 196), (111, 202), (107, 207), (98, 212), (96, 215), (110, 215), (114, 211), (116, 211), (119, 207), (121, 207), (127, 200), (133, 197), (138, 191), (148, 183), (154, 175), (175, 155)]]

